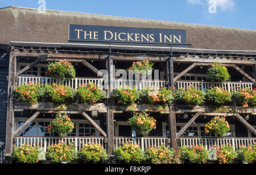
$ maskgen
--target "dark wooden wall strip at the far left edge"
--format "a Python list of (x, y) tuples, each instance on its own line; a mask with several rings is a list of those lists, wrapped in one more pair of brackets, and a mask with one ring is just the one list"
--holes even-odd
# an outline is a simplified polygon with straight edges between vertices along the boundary
[(5, 47), (0, 47), (0, 164), (3, 163), (5, 156), (8, 74), (9, 53)]

